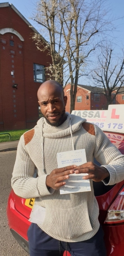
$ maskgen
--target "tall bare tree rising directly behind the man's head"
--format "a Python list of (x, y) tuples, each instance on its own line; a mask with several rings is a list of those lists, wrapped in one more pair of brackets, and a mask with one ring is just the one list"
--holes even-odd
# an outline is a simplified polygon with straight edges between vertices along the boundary
[[(52, 64), (46, 68), (49, 79), (63, 85), (71, 81), (71, 109), (75, 107), (78, 78), (85, 75), (91, 52), (111, 31), (105, 20), (106, 0), (40, 0), (33, 18), (41, 27), (33, 40), (40, 51), (47, 49)], [(107, 9), (107, 8), (106, 8)], [(98, 35), (98, 36), (96, 36)]]

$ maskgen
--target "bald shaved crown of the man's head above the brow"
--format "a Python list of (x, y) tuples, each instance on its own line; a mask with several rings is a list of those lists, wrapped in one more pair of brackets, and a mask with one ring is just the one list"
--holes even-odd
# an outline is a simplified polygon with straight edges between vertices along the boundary
[(55, 91), (57, 90), (64, 97), (63, 87), (57, 81), (47, 80), (44, 83), (42, 83), (38, 89), (38, 93), (37, 93), (38, 99), (39, 99), (40, 95), (42, 94), (43, 90), (49, 90), (49, 89), (52, 89)]

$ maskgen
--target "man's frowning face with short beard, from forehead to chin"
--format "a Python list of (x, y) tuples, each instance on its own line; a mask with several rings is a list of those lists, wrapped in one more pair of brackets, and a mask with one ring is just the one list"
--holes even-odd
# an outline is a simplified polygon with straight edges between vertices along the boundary
[(39, 93), (39, 106), (46, 121), (52, 126), (59, 126), (65, 121), (67, 97), (59, 87), (43, 86)]

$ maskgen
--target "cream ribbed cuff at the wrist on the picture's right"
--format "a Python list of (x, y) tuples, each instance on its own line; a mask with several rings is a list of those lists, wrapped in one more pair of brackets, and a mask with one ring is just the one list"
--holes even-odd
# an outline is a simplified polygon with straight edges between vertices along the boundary
[(101, 165), (101, 167), (104, 167), (108, 170), (109, 174), (110, 174), (110, 179), (108, 182), (106, 182), (106, 180), (103, 180), (102, 182), (104, 182), (104, 185), (114, 185), (115, 181), (116, 181), (116, 170), (113, 166), (111, 165)]

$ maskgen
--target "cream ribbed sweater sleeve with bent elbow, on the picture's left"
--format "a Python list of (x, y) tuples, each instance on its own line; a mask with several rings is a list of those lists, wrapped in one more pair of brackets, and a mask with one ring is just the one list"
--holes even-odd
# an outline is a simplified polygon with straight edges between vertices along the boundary
[(34, 178), (35, 165), (26, 152), (24, 135), (20, 137), (16, 160), (13, 168), (11, 185), (16, 195), (23, 198), (51, 195), (54, 189), (47, 189), (46, 177)]

